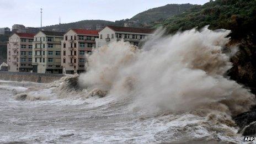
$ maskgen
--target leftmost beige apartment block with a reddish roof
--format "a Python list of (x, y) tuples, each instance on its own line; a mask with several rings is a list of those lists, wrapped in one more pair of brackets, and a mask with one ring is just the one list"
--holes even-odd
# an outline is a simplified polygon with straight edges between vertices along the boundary
[(8, 71), (31, 72), (32, 64), (32, 42), (34, 34), (14, 33), (9, 38), (7, 45)]

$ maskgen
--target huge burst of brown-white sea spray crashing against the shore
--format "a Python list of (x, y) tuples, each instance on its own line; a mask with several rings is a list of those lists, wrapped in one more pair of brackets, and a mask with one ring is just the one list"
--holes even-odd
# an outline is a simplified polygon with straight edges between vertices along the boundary
[(222, 53), (230, 32), (206, 26), (164, 36), (163, 30), (157, 30), (141, 50), (129, 42), (111, 42), (88, 57), (88, 69), (79, 84), (119, 98), (131, 97), (134, 108), (210, 108), (237, 115), (249, 110), (255, 99), (248, 89), (225, 76), (232, 67), (231, 54)]

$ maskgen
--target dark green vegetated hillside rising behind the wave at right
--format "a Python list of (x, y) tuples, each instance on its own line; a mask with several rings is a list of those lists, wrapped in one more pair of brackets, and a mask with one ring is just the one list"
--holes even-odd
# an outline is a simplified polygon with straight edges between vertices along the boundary
[(167, 33), (174, 33), (205, 25), (210, 25), (210, 29), (232, 30), (231, 43), (239, 44), (239, 51), (231, 60), (233, 68), (228, 75), (256, 93), (256, 1), (211, 1), (153, 26), (164, 26)]

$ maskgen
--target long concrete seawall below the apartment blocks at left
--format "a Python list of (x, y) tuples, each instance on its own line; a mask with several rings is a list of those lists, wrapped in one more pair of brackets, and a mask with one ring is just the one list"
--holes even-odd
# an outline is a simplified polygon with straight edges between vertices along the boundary
[(50, 83), (65, 76), (64, 74), (46, 74), (29, 72), (7, 72), (0, 71), (0, 79), (5, 81), (30, 81), (38, 83)]

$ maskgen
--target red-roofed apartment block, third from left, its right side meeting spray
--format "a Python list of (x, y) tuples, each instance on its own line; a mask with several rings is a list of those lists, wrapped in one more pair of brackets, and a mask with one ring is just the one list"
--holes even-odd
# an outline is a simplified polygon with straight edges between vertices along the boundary
[(86, 70), (86, 54), (95, 47), (95, 39), (99, 38), (97, 30), (70, 29), (61, 41), (61, 65), (63, 73), (74, 74)]

